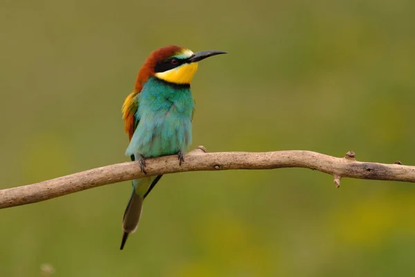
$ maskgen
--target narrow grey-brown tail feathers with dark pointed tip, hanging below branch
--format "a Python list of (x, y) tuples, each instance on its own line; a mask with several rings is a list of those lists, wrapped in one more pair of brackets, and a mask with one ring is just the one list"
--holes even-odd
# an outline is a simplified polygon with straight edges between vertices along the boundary
[(131, 193), (127, 208), (125, 208), (124, 217), (122, 218), (122, 230), (124, 230), (124, 233), (122, 234), (121, 250), (124, 248), (128, 235), (134, 233), (137, 229), (142, 202), (144, 202), (144, 197), (138, 195), (133, 187), (133, 193)]

